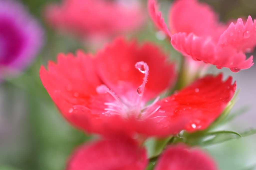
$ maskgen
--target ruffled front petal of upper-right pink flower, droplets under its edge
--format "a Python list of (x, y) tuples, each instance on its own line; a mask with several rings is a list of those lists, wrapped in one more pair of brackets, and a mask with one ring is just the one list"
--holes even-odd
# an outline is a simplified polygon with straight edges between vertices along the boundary
[(171, 43), (184, 56), (216, 65), (219, 69), (227, 67), (237, 72), (239, 69), (247, 69), (253, 65), (252, 56), (246, 59), (244, 53), (238, 52), (231, 45), (217, 46), (210, 38), (198, 37), (193, 33), (174, 34)]

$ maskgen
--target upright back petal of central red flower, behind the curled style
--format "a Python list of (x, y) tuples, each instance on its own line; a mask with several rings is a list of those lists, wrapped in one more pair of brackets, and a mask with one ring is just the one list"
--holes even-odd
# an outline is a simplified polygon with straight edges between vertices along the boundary
[(167, 55), (152, 43), (139, 46), (135, 41), (128, 42), (124, 38), (117, 38), (96, 57), (101, 80), (120, 98), (131, 104), (137, 102), (137, 89), (144, 77), (144, 74), (135, 68), (136, 62), (143, 61), (149, 67), (143, 94), (145, 102), (158, 96), (176, 80), (175, 64), (168, 63)]

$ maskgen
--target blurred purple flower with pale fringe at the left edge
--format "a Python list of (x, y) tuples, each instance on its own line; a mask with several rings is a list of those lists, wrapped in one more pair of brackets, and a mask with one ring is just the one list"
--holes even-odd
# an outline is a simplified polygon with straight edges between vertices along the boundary
[(0, 1), (0, 77), (24, 69), (43, 43), (43, 30), (22, 4)]

